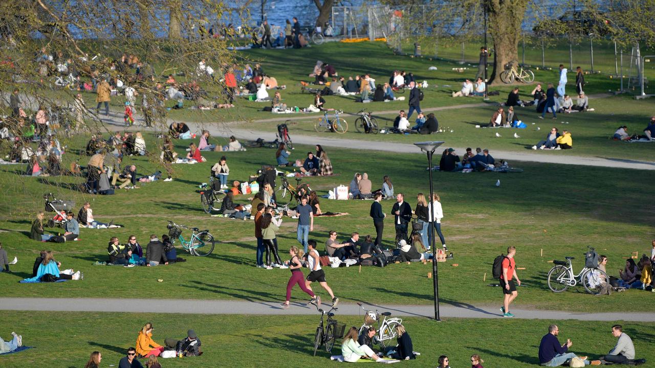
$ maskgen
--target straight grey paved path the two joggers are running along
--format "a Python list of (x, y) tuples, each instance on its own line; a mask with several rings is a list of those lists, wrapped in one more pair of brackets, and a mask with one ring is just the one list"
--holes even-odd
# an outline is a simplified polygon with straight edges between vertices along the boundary
[[(124, 310), (126, 299), (74, 299), (74, 298), (0, 298), (0, 310), (46, 310), (53, 312), (116, 312)], [(280, 301), (203, 301), (176, 299), (130, 299), (130, 308), (139, 312), (185, 313), (185, 314), (312, 314), (314, 306), (291, 303), (288, 309), (280, 308)], [(323, 305), (329, 308), (328, 305)], [(367, 309), (380, 312), (390, 311), (394, 316), (434, 317), (434, 305), (364, 305)], [(357, 304), (340, 303), (337, 314), (360, 315)], [(581, 320), (581, 321), (633, 321), (655, 322), (655, 313), (610, 312), (584, 313), (556, 310), (513, 309), (515, 318), (537, 320)], [(464, 303), (440, 304), (441, 318), (502, 318), (497, 307), (477, 307)]]

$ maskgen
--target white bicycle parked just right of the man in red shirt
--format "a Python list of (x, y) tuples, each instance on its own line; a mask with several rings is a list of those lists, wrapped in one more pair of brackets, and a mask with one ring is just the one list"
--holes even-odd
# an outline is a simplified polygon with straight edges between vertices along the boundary
[[(587, 247), (592, 249), (591, 247)], [(575, 257), (566, 257), (568, 261), (557, 261), (554, 260), (555, 266), (548, 271), (548, 288), (553, 291), (553, 293), (561, 293), (566, 291), (569, 286), (575, 286), (578, 284), (576, 278), (578, 278), (580, 284), (584, 286), (584, 289), (593, 295), (598, 295), (601, 293), (601, 290), (609, 282), (609, 277), (607, 273), (598, 268), (588, 268), (584, 267), (578, 274), (573, 273), (573, 265), (571, 263), (572, 259)]]

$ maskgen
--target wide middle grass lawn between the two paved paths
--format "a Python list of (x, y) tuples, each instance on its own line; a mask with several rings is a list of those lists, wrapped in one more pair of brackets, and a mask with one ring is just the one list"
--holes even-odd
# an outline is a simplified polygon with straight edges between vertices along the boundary
[[(81, 147), (84, 145), (81, 139), (67, 143), (69, 147)], [(147, 143), (149, 149), (156, 147), (151, 136), (147, 136)], [(187, 143), (178, 141), (181, 155)], [(298, 147), (295, 155), (308, 149)], [(66, 160), (77, 157), (75, 152), (67, 153)], [(354, 172), (368, 172), (374, 187), (381, 185), (383, 175), (390, 175), (396, 193), (407, 193), (407, 202), (411, 205), (416, 203), (416, 193), (428, 191), (424, 156), (346, 149), (329, 149), (328, 153), (337, 175), (305, 179), (319, 194), (339, 184), (348, 185)], [(156, 293), (149, 293), (155, 298), (281, 300), (288, 271), (253, 267), (256, 243), (252, 222), (209, 217), (200, 209), (196, 193), (198, 183), (207, 181), (210, 166), (221, 153), (205, 155), (206, 163), (176, 165), (172, 183), (149, 183), (140, 189), (117, 191), (114, 196), (73, 192), (69, 189), (71, 183), (82, 182), (75, 177), (21, 177), (15, 171), (22, 170), (22, 166), (2, 166), (0, 187), (5, 195), (0, 200), (3, 210), (0, 241), (10, 257), (16, 255), (19, 259), (18, 265), (12, 267), (13, 275), (0, 277), (3, 295), (125, 297), (124, 290), (134, 287), (136, 282), (139, 290), (156, 290)], [(225, 155), (231, 168), (230, 180), (242, 181), (261, 164), (274, 163), (272, 149), (250, 149)], [(158, 152), (155, 156), (159, 156)], [(138, 165), (141, 173), (157, 169), (153, 162), (144, 158), (126, 158), (124, 164), (132, 162)], [(86, 164), (86, 158), (81, 163)], [(548, 261), (567, 255), (577, 257), (574, 267), (578, 270), (582, 267), (581, 256), (586, 246), (593, 246), (609, 257), (610, 274), (618, 274), (617, 269), (632, 251), (650, 251), (650, 239), (654, 235), (650, 219), (655, 209), (644, 205), (644, 193), (655, 174), (528, 162), (521, 167), (525, 169), (521, 174), (436, 173), (436, 191), (441, 194), (445, 212), (443, 232), (455, 254), (454, 261), (439, 265), (443, 303), (498, 304), (500, 291), (487, 286), (491, 262), (507, 246), (514, 245), (518, 248), (517, 265), (526, 268), (519, 271), (525, 283), (517, 299), (520, 306), (581, 311), (651, 310), (650, 293), (643, 291), (618, 293), (610, 298), (592, 297), (580, 289), (555, 295), (548, 291), (546, 273), (552, 267)], [(502, 182), (500, 188), (494, 185), (497, 179)], [(79, 242), (65, 244), (29, 240), (31, 219), (35, 212), (43, 210), (41, 197), (48, 192), (59, 198), (75, 199), (75, 213), (84, 200), (90, 200), (96, 219), (107, 222), (113, 219), (126, 227), (82, 229)], [(244, 203), (246, 198), (238, 197), (236, 202)], [(322, 250), (327, 232), (332, 229), (339, 231), (344, 239), (352, 231), (371, 234), (374, 230), (368, 216), (370, 204), (370, 201), (360, 200), (322, 200), (324, 211), (350, 215), (317, 218), (310, 237), (318, 240)], [(385, 212), (390, 212), (391, 206), (392, 201), (383, 202)], [(182, 254), (188, 259), (187, 263), (170, 267), (126, 269), (92, 265), (94, 261), (106, 260), (111, 236), (119, 236), (126, 242), (127, 237), (134, 234), (145, 248), (150, 234), (166, 232), (168, 219), (210, 229), (221, 243), (210, 257)], [(392, 246), (392, 219), (386, 221), (384, 236), (384, 244)], [(295, 237), (295, 221), (285, 219), (278, 234), (282, 257), (286, 257), (290, 246), (297, 244)], [(83, 270), (86, 280), (18, 284), (18, 280), (31, 274), (32, 260), (41, 249), (53, 249), (62, 267)], [(540, 257), (541, 249), (543, 257)], [(453, 267), (452, 263), (459, 266)], [(327, 270), (327, 277), (337, 295), (349, 301), (429, 304), (432, 295), (432, 281), (426, 278), (429, 270), (430, 266), (421, 264), (364, 267), (361, 274), (357, 268), (338, 268)], [(485, 272), (487, 280), (483, 282)], [(164, 282), (158, 283), (159, 278)]]

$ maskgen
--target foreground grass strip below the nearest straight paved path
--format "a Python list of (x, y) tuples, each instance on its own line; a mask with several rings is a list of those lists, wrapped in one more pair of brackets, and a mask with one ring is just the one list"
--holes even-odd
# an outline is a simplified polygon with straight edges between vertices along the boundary
[[(223, 367), (340, 367), (319, 351), (313, 356), (312, 340), (316, 316), (241, 316), (197, 314), (65, 313), (4, 312), (2, 336), (10, 331), (23, 336), (23, 343), (36, 348), (3, 356), (7, 367), (33, 367), (51, 364), (58, 367), (83, 367), (93, 351), (102, 354), (101, 367), (117, 366), (126, 349), (134, 346), (136, 335), (145, 322), (153, 322), (153, 339), (182, 339), (187, 329), (195, 329), (204, 354), (199, 357), (160, 359), (163, 367), (207, 367), (221, 361)], [(346, 327), (359, 327), (363, 318), (336, 317)], [(45, 321), (56, 321), (44, 323)], [(559, 339), (571, 339), (570, 351), (578, 356), (599, 358), (607, 354), (616, 339), (609, 333), (612, 322), (548, 321), (548, 320), (462, 320), (433, 322), (425, 318), (403, 318), (414, 350), (421, 353), (416, 360), (405, 361), (403, 367), (435, 367), (439, 356), (449, 357), (451, 366), (466, 367), (472, 354), (479, 354), (485, 367), (534, 367), (538, 365), (538, 346), (550, 323), (557, 323)], [(119, 327), (119, 328), (117, 328)], [(631, 336), (637, 358), (655, 359), (649, 346), (655, 342), (655, 323), (624, 323)], [(499, 342), (502, 339), (502, 342)], [(64, 344), (62, 345), (62, 342)], [(435, 342), (437, 342), (435, 344)], [(332, 354), (341, 354), (337, 340)], [(145, 360), (143, 360), (145, 363)]]

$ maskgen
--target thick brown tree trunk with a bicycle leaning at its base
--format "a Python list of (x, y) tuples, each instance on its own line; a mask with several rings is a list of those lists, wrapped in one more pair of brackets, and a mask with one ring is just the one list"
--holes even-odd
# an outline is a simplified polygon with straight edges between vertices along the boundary
[[(505, 64), (519, 59), (521, 22), (525, 16), (528, 0), (487, 0), (489, 33), (493, 37), (493, 69), (489, 73), (489, 84), (500, 83), (500, 73)], [(489, 60), (491, 63), (491, 60)], [(491, 65), (489, 65), (491, 66)]]

